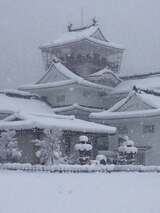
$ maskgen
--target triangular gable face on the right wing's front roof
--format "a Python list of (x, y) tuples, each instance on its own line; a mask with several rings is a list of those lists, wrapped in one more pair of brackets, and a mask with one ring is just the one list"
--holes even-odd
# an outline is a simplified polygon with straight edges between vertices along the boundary
[(125, 111), (139, 111), (139, 110), (148, 110), (153, 109), (150, 105), (144, 103), (140, 100), (136, 95), (130, 97), (126, 103), (124, 103), (120, 108), (118, 108), (117, 112), (125, 112)]

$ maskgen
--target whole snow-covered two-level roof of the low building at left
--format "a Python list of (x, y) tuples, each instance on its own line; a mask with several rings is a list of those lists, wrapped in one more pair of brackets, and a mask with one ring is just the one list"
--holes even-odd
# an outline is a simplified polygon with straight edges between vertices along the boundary
[[(23, 92), (22, 92), (23, 93)], [(0, 120), (0, 129), (61, 128), (68, 131), (113, 134), (116, 128), (56, 115), (53, 109), (38, 97), (20, 91), (0, 94), (0, 114), (9, 113)], [(25, 96), (26, 95), (26, 96)]]

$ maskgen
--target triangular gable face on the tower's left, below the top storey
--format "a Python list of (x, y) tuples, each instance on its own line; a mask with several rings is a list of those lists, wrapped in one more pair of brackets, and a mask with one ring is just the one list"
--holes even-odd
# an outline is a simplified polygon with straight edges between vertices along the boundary
[(56, 81), (64, 81), (68, 80), (69, 78), (59, 72), (54, 66), (50, 68), (50, 70), (38, 81), (38, 84), (41, 83), (51, 83)]

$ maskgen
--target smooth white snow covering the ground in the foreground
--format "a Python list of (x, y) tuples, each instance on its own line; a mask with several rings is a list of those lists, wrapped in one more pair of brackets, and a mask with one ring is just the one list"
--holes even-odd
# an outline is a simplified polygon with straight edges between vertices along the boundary
[(1, 213), (159, 213), (160, 173), (0, 171)]

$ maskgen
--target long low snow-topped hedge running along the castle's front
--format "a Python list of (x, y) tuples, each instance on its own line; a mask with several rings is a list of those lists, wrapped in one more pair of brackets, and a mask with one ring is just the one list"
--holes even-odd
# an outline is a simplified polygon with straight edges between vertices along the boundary
[(0, 170), (21, 170), (29, 172), (160, 172), (160, 166), (142, 165), (31, 165), (20, 163), (0, 164)]

